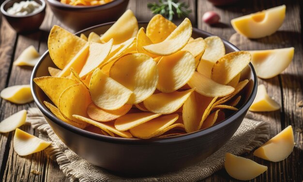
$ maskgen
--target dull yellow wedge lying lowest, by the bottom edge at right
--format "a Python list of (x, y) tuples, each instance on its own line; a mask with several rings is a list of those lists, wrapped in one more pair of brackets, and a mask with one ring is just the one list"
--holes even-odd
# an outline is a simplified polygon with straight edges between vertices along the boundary
[(267, 166), (231, 153), (226, 153), (224, 166), (231, 177), (243, 181), (252, 180), (267, 170)]

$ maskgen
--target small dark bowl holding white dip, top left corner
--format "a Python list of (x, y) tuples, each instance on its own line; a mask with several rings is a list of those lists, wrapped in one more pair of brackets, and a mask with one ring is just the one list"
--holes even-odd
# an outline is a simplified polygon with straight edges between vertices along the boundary
[(12, 7), (15, 2), (20, 2), (22, 0), (5, 0), (0, 7), (2, 15), (6, 18), (8, 23), (17, 32), (29, 32), (33, 30), (38, 30), (42, 24), (45, 17), (45, 1), (44, 0), (34, 0), (41, 4), (39, 11), (29, 14), (29, 15), (10, 15), (6, 11), (8, 8)]

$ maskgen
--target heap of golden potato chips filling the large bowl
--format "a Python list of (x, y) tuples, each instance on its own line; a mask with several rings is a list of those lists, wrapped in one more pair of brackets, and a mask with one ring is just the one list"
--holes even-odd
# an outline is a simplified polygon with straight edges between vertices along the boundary
[(145, 30), (130, 10), (101, 36), (54, 26), (48, 48), (59, 69), (34, 82), (54, 115), (90, 132), (143, 139), (195, 132), (237, 110), (251, 56), (225, 54), (219, 37), (191, 35), (188, 18), (176, 26), (155, 15)]

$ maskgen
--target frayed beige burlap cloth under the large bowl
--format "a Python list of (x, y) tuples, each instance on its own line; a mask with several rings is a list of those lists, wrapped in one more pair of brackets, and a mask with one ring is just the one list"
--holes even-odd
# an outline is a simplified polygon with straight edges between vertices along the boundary
[(246, 117), (227, 144), (197, 165), (167, 174), (144, 178), (124, 178), (91, 165), (67, 148), (54, 134), (38, 108), (29, 109), (27, 122), (40, 132), (40, 138), (52, 142), (46, 149), (46, 153), (51, 159), (57, 161), (64, 175), (70, 181), (79, 182), (196, 182), (223, 168), (226, 152), (235, 155), (250, 152), (269, 138), (269, 124)]

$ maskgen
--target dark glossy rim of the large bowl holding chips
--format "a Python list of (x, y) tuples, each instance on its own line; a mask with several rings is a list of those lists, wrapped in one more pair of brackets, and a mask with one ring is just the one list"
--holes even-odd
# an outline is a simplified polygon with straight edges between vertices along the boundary
[[(98, 28), (101, 26), (105, 26), (105, 25), (110, 25), (113, 24), (114, 22), (108, 22), (108, 23), (103, 23), (103, 24), (99, 24), (99, 25), (95, 25), (83, 30), (80, 30), (78, 32), (76, 32), (76, 35), (79, 35), (80, 33), (87, 31), (87, 30), (91, 30), (94, 28)], [(148, 23), (148, 21), (138, 21), (138, 24), (143, 24), (143, 23)], [(213, 36), (212, 33), (209, 33), (207, 31), (204, 30), (200, 30), (197, 28), (193, 27), (193, 31), (196, 32), (200, 32), (203, 34), (206, 34), (207, 36)], [(237, 48), (235, 45), (231, 44), (230, 42), (228, 42), (226, 39), (221, 38), (222, 41), (230, 46), (232, 49), (240, 51), (239, 48)], [(249, 67), (251, 69), (252, 72), (252, 77), (254, 79), (253, 82), (253, 87), (252, 87), (252, 91), (248, 97), (248, 99), (246, 100), (245, 103), (243, 103), (243, 105), (235, 112), (233, 113), (229, 118), (225, 119), (224, 121), (221, 121), (209, 128), (203, 129), (203, 130), (199, 130), (196, 132), (192, 132), (189, 134), (184, 134), (184, 135), (180, 135), (180, 136), (169, 136), (169, 137), (164, 137), (164, 138), (150, 138), (150, 139), (140, 139), (140, 138), (120, 138), (120, 137), (112, 137), (112, 136), (104, 136), (104, 135), (99, 135), (99, 134), (95, 134), (80, 128), (77, 128), (75, 126), (72, 126), (64, 121), (61, 121), (60, 119), (58, 119), (53, 113), (51, 113), (43, 104), (43, 101), (41, 102), (38, 99), (38, 96), (36, 94), (36, 89), (35, 89), (35, 83), (33, 82), (33, 78), (36, 74), (36, 71), (39, 67), (39, 65), (41, 64), (41, 62), (44, 60), (44, 58), (48, 55), (48, 50), (45, 51), (45, 53), (40, 57), (38, 63), (34, 66), (31, 77), (30, 77), (30, 89), (34, 98), (34, 102), (35, 104), (38, 106), (38, 108), (41, 110), (41, 112), (51, 121), (55, 122), (57, 125), (59, 125), (60, 127), (73, 132), (75, 134), (81, 135), (81, 136), (85, 136), (91, 139), (95, 139), (95, 140), (100, 140), (100, 141), (104, 141), (104, 142), (110, 142), (110, 143), (120, 143), (120, 144), (141, 144), (141, 145), (152, 145), (152, 144), (164, 144), (164, 143), (176, 143), (176, 142), (184, 142), (186, 140), (191, 140), (197, 137), (201, 137), (204, 135), (209, 135), (213, 132), (215, 132), (216, 130), (220, 129), (220, 128), (224, 128), (226, 127), (228, 124), (230, 124), (233, 121), (236, 121), (237, 118), (240, 118), (242, 116), (243, 113), (245, 113), (248, 108), (251, 106), (251, 104), (253, 103), (256, 94), (257, 94), (257, 84), (258, 84), (258, 78), (257, 78), (257, 74), (255, 72), (255, 69), (253, 67), (253, 65), (251, 63), (249, 63)]]

